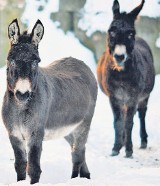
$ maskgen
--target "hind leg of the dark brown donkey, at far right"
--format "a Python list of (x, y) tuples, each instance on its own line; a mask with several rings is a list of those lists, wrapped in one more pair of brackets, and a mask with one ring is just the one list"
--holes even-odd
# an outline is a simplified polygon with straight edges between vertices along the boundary
[(140, 148), (145, 149), (147, 147), (147, 132), (146, 132), (146, 124), (145, 124), (145, 116), (147, 111), (147, 103), (148, 98), (145, 99), (138, 105), (138, 113), (140, 119), (140, 137), (141, 137), (141, 146)]

